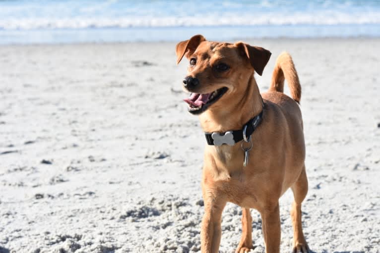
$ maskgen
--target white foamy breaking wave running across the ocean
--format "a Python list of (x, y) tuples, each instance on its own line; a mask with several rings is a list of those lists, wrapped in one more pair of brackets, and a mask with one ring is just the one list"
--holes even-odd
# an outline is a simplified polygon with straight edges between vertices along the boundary
[(131, 27), (206, 27), (253, 25), (341, 25), (380, 24), (380, 13), (346, 14), (293, 14), (252, 16), (201, 16), (201, 17), (126, 17), (126, 18), (17, 18), (0, 19), (0, 29), (82, 29), (82, 28), (131, 28)]

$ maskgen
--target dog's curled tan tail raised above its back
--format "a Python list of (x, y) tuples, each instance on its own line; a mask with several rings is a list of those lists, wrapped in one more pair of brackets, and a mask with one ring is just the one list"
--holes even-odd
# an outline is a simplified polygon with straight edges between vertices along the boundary
[(300, 103), (301, 85), (292, 57), (287, 52), (282, 52), (276, 60), (272, 74), (272, 82), (269, 91), (284, 92), (284, 81), (288, 83), (292, 98)]

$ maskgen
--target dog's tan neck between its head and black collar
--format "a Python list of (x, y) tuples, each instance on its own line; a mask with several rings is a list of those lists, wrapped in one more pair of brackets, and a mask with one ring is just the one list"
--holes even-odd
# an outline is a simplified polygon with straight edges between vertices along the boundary
[(256, 81), (252, 76), (247, 81), (245, 92), (228, 104), (209, 108), (199, 115), (204, 132), (227, 132), (242, 129), (251, 118), (262, 110), (262, 99)]

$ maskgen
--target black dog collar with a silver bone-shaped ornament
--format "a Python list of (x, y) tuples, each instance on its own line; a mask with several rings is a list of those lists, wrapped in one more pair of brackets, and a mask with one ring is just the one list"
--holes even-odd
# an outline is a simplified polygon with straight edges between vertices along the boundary
[(260, 124), (262, 120), (262, 110), (258, 115), (250, 119), (241, 130), (233, 130), (225, 133), (204, 133), (206, 136), (206, 141), (208, 145), (220, 146), (227, 144), (229, 146), (234, 146), (236, 143), (245, 140), (248, 142), (251, 139), (251, 135), (254, 130)]

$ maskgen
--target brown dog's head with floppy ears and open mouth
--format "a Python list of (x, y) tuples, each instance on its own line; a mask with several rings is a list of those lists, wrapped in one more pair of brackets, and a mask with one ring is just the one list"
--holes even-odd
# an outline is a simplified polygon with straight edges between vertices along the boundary
[(190, 61), (183, 87), (191, 92), (185, 101), (192, 114), (244, 94), (253, 70), (261, 75), (271, 55), (270, 51), (242, 42), (206, 41), (202, 35), (178, 43), (176, 54), (177, 64), (184, 56)]

